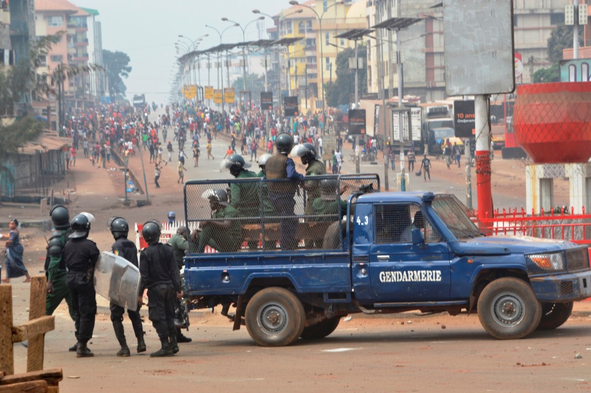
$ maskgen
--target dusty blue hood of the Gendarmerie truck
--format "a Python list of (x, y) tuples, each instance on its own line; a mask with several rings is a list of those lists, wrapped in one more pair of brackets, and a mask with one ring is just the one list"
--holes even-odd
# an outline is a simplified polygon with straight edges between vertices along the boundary
[(482, 254), (535, 254), (560, 251), (577, 247), (570, 241), (541, 239), (530, 236), (496, 235), (478, 237), (453, 244), (454, 253), (460, 255)]

